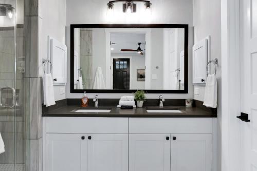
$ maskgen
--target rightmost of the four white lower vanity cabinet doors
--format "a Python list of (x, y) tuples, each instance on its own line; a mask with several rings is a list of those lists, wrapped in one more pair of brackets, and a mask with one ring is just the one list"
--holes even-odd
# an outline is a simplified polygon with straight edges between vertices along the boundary
[(171, 135), (172, 171), (211, 171), (211, 134)]

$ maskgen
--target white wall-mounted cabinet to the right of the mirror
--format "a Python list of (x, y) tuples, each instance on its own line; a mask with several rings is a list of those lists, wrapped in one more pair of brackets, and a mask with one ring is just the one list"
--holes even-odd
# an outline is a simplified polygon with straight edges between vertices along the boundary
[(193, 84), (206, 83), (208, 60), (208, 40), (204, 39), (193, 46)]

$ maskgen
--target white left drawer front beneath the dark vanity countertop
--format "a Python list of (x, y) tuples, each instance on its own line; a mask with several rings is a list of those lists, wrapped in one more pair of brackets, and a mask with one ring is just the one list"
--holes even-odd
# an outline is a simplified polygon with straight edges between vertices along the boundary
[(128, 134), (128, 118), (47, 117), (46, 132)]

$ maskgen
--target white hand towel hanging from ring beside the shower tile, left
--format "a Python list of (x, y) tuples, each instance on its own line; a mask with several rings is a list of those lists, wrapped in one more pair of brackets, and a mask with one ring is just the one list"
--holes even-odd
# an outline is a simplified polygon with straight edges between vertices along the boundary
[(43, 77), (43, 89), (44, 105), (46, 105), (46, 107), (55, 105), (56, 101), (54, 100), (52, 75), (50, 73), (45, 74)]

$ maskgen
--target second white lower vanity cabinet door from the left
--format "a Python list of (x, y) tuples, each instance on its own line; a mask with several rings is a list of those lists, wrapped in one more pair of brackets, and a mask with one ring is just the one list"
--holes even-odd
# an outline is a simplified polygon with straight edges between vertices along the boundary
[(88, 171), (127, 171), (127, 134), (88, 135)]

